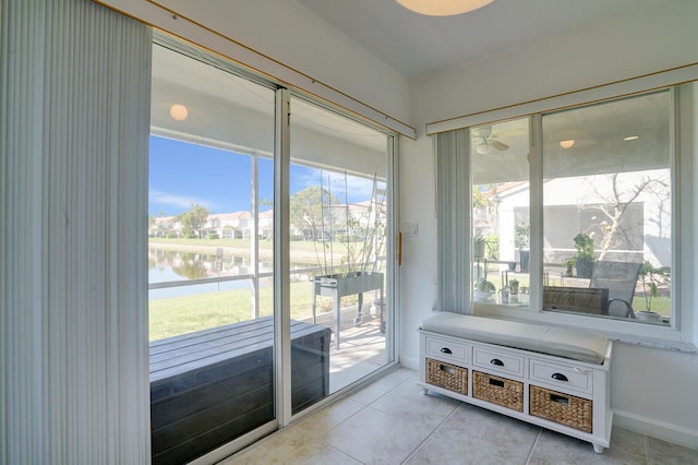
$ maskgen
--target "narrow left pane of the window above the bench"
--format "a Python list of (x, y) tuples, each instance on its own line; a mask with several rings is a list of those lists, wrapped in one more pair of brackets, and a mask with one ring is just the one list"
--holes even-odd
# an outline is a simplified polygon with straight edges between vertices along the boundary
[(528, 119), (471, 128), (476, 301), (528, 307)]

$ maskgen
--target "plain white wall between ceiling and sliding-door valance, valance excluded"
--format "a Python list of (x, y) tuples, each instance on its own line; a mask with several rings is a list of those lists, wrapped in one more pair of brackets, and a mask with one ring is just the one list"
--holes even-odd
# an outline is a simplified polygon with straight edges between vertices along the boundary
[(163, 3), (395, 118), (410, 117), (407, 80), (296, 0), (236, 2), (234, 15), (225, 13), (230, 0)]

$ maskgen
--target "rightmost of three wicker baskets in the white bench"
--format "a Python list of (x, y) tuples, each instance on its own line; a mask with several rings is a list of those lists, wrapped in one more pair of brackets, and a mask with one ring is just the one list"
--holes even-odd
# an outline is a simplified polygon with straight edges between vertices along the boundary
[(555, 391), (531, 385), (531, 415), (581, 431), (591, 432), (593, 403)]

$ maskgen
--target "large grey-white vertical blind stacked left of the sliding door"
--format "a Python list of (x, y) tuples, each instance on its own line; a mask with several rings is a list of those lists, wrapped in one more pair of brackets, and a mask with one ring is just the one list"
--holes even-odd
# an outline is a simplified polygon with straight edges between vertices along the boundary
[(151, 34), (0, 0), (0, 463), (149, 460)]

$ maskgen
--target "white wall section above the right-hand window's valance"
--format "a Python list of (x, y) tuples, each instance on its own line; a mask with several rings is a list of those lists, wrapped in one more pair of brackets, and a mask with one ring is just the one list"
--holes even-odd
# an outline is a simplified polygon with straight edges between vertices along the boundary
[(423, 124), (698, 61), (698, 2), (646, 7), (591, 29), (411, 82), (412, 124)]

